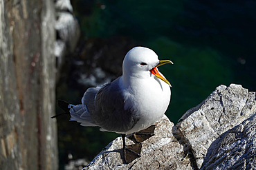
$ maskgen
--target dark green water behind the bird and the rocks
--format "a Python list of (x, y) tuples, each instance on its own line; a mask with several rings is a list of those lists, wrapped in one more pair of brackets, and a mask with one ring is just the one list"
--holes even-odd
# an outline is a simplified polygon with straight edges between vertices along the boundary
[[(71, 1), (84, 39), (129, 37), (174, 65), (159, 70), (172, 84), (167, 116), (176, 123), (219, 85), (237, 83), (255, 91), (254, 1)], [(93, 158), (117, 135), (72, 124), (62, 131), (61, 145)], [(78, 130), (75, 130), (78, 129)], [(76, 134), (77, 140), (72, 140)], [(72, 136), (71, 136), (72, 135)], [(64, 138), (64, 139), (62, 139)], [(60, 148), (60, 154), (67, 150)], [(64, 151), (65, 150), (65, 151)], [(84, 151), (77, 153), (78, 151)]]

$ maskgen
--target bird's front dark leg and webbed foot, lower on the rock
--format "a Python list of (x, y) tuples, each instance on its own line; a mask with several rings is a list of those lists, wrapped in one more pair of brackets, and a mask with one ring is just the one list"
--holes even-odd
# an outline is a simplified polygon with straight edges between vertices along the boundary
[(125, 134), (122, 134), (122, 149), (124, 151), (125, 155), (125, 162), (129, 164), (129, 162), (135, 160), (136, 158), (140, 157), (140, 151), (141, 151), (141, 143), (136, 143), (134, 145), (125, 145)]

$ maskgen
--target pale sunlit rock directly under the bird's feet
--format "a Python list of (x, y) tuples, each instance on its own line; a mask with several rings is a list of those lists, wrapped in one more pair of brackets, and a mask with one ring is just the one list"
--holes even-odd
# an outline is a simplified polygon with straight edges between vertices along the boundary
[[(122, 138), (118, 137), (94, 158), (85, 169), (192, 169), (188, 148), (177, 140), (179, 131), (163, 116), (156, 123), (155, 136), (143, 142), (141, 157), (123, 162)], [(127, 145), (133, 144), (126, 139)]]

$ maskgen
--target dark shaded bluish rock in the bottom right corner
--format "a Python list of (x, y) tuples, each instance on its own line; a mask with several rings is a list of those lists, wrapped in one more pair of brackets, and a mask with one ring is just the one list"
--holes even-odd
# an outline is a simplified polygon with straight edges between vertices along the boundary
[(256, 114), (214, 140), (201, 169), (256, 169), (255, 136)]

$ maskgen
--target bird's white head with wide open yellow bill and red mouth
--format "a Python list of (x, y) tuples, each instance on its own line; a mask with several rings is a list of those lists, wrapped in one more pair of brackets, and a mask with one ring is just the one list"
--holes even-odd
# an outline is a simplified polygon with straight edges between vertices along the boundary
[(172, 63), (172, 61), (159, 61), (158, 56), (153, 50), (147, 47), (134, 47), (127, 52), (122, 62), (122, 75), (126, 77), (149, 78), (154, 74), (157, 78), (172, 87), (169, 81), (157, 69), (158, 66), (166, 63)]

